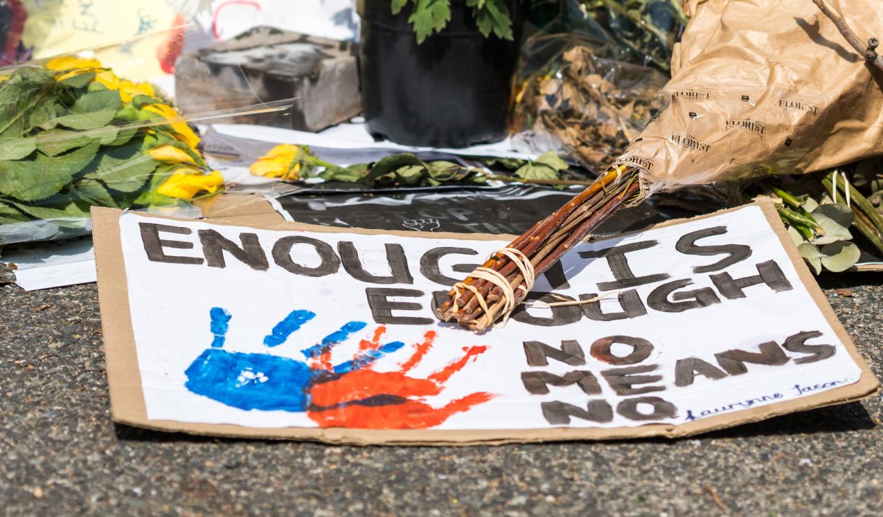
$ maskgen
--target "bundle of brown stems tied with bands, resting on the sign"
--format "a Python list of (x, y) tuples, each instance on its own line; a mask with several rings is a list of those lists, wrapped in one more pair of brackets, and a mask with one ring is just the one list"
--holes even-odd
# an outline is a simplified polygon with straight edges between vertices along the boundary
[(436, 315), (481, 332), (509, 317), (530, 292), (533, 280), (623, 206), (643, 199), (638, 169), (617, 165), (566, 205), (533, 225), (506, 248), (494, 251), (464, 281), (450, 289)]

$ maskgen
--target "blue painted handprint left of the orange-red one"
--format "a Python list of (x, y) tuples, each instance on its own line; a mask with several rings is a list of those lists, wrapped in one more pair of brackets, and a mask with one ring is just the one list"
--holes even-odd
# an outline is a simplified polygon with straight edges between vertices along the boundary
[[(404, 347), (402, 341), (392, 341), (362, 350), (350, 361), (325, 369), (283, 356), (225, 350), (223, 346), (230, 324), (230, 312), (215, 307), (209, 311), (209, 316), (215, 339), (211, 348), (203, 351), (185, 371), (185, 386), (192, 393), (246, 410), (306, 411), (310, 408), (310, 388), (317, 382), (328, 382), (358, 371), (385, 354)], [(315, 316), (312, 311), (291, 311), (264, 338), (264, 345), (272, 348), (283, 344), (291, 333), (297, 332)], [(331, 348), (365, 326), (363, 321), (350, 321), (301, 353), (307, 359), (328, 356)]]

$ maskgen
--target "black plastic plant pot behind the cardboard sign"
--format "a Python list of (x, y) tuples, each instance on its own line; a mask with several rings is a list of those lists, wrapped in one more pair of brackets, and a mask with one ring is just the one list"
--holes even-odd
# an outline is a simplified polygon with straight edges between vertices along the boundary
[(466, 147), (504, 139), (518, 62), (523, 3), (507, 0), (514, 41), (483, 36), (465, 0), (449, 25), (418, 45), (409, 3), (360, 6), (362, 109), (374, 136), (407, 146)]

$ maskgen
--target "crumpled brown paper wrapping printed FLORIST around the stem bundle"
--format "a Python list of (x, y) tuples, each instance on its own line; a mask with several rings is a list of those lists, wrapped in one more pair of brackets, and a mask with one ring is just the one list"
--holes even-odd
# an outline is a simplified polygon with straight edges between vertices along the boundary
[[(859, 37), (883, 34), (879, 0), (830, 0)], [(646, 191), (801, 174), (878, 154), (883, 72), (811, 0), (699, 0), (664, 103), (616, 164)]]

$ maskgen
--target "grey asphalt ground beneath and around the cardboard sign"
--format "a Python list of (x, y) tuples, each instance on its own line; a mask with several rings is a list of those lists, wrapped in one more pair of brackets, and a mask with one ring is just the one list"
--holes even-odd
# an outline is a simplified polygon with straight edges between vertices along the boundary
[[(883, 378), (881, 278), (822, 285)], [(0, 286), (0, 307), (8, 515), (883, 514), (879, 396), (677, 441), (435, 448), (197, 438), (110, 420), (94, 285)]]

